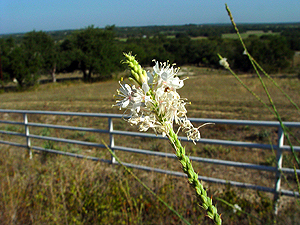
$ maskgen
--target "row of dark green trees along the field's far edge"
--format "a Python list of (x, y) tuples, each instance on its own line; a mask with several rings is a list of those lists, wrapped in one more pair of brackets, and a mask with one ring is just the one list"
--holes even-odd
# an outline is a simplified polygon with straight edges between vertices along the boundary
[[(238, 40), (224, 39), (211, 27), (204, 30), (207, 36), (195, 39), (192, 37), (199, 32), (188, 28), (172, 37), (156, 28), (148, 35), (127, 35), (123, 40), (117, 36), (120, 30), (114, 26), (104, 29), (89, 26), (59, 40), (43, 31), (28, 32), (18, 41), (12, 37), (1, 38), (1, 82), (14, 79), (20, 87), (28, 87), (36, 84), (42, 74), (49, 74), (55, 82), (57, 73), (78, 70), (85, 81), (111, 79), (114, 72), (124, 70), (120, 63), (122, 53), (129, 51), (137, 54), (144, 66), (150, 66), (156, 59), (213, 68), (219, 67), (217, 53), (220, 53), (228, 58), (233, 69), (252, 72)], [(222, 31), (226, 29), (229, 28), (223, 27)], [(244, 41), (252, 56), (268, 72), (278, 72), (289, 67), (294, 50), (300, 47), (297, 34), (285, 30), (285, 35), (252, 35)]]

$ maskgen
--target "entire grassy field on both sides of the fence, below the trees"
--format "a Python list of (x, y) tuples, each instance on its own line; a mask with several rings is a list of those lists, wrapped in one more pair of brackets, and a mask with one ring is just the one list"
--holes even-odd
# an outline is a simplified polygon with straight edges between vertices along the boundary
[[(188, 76), (185, 86), (179, 90), (181, 97), (188, 98), (189, 117), (275, 120), (239, 82), (225, 71), (197, 67), (183, 67), (182, 76)], [(124, 74), (122, 74), (124, 76)], [(119, 75), (121, 76), (121, 75)], [(117, 76), (116, 76), (117, 77)], [(299, 105), (300, 81), (292, 75), (274, 75), (275, 81)], [(240, 78), (267, 102), (259, 80), (254, 75), (241, 74)], [(287, 99), (266, 80), (273, 101), (284, 121), (299, 121), (299, 112)], [(74, 112), (123, 113), (114, 104), (113, 95), (119, 84), (116, 80), (101, 83), (60, 82), (43, 84), (24, 92), (9, 92), (0, 95), (2, 109), (53, 110)], [(1, 114), (0, 119), (8, 115)], [(17, 117), (17, 116), (16, 116)], [(32, 117), (30, 121), (44, 121), (52, 124), (90, 126), (101, 128), (105, 121), (70, 117)], [(125, 121), (118, 121), (115, 127), (132, 130)], [(3, 129), (3, 127), (1, 127)], [(12, 126), (7, 130), (16, 130)], [(91, 142), (101, 142), (101, 136), (84, 132), (61, 132), (36, 129), (32, 132), (57, 137), (75, 138)], [(203, 138), (226, 140), (247, 140), (263, 143), (276, 142), (276, 131), (267, 128), (206, 126), (201, 130)], [(299, 131), (295, 131), (297, 137)], [(4, 138), (4, 135), (1, 135)], [(103, 138), (105, 141), (108, 137)], [(12, 139), (11, 139), (12, 140)], [(154, 151), (172, 152), (166, 141), (147, 139), (118, 139), (117, 145), (145, 148)], [(106, 151), (70, 147), (56, 143), (41, 143), (45, 147), (65, 149), (72, 152), (108, 157)], [(35, 155), (33, 160), (25, 157), (25, 152), (13, 147), (1, 146), (0, 159), (0, 223), (1, 224), (181, 224), (178, 218), (147, 193), (122, 168), (86, 160), (71, 159), (53, 155)], [(186, 144), (188, 155), (224, 160), (274, 165), (274, 152), (259, 149), (228, 148)], [(122, 161), (164, 169), (177, 169), (175, 160), (118, 153)], [(289, 154), (284, 156), (285, 166), (292, 166)], [(200, 175), (273, 187), (273, 175), (267, 172), (249, 172), (222, 166), (196, 164)], [(193, 192), (183, 178), (166, 175), (134, 172), (149, 187), (172, 205), (192, 224), (212, 224), (196, 204)], [(293, 176), (287, 177), (283, 186), (295, 187)], [(209, 195), (222, 198), (231, 204), (238, 204), (251, 216), (234, 213), (230, 206), (217, 202), (224, 224), (273, 224), (272, 195), (245, 189), (205, 183)], [(277, 224), (299, 223), (300, 207), (295, 199), (281, 199)], [(256, 218), (254, 218), (256, 217)]]

